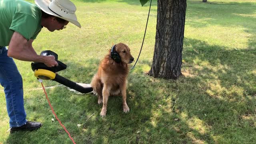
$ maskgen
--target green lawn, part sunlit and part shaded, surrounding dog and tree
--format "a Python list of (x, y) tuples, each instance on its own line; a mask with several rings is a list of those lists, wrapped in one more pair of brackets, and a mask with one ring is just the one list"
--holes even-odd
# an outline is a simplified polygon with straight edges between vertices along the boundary
[[(87, 143), (256, 143), (256, 2), (255, 0), (187, 0), (182, 74), (178, 80), (152, 78), (157, 2), (152, 2), (142, 54), (130, 73), (127, 102), (108, 100), (106, 118), (92, 94), (64, 87), (47, 89), (58, 118), (77, 144)], [(32, 1), (31, 1), (32, 2)], [(149, 4), (139, 0), (76, 0), (82, 28), (69, 24), (58, 32), (42, 30), (34, 42), (38, 53), (53, 50), (68, 68), (70, 80), (90, 83), (112, 43), (124, 42), (137, 58)], [(0, 92), (0, 144), (70, 144), (68, 134), (46, 101), (30, 62), (16, 60), (24, 80), (28, 120), (43, 127), (9, 134), (3, 88)], [(44, 81), (45, 86), (57, 82)], [(94, 114), (95, 113), (95, 114)], [(94, 114), (94, 115), (92, 115)], [(90, 117), (92, 115), (92, 117)], [(90, 118), (89, 118), (90, 117)], [(89, 119), (88, 119), (89, 118)], [(87, 121), (86, 121), (87, 120)], [(83, 124), (78, 128), (77, 124)]]

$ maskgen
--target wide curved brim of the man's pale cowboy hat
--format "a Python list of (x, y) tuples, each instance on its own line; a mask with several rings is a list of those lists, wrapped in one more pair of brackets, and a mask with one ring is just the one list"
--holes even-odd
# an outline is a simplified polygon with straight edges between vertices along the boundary
[(81, 28), (81, 25), (80, 25), (80, 23), (77, 21), (77, 19), (76, 19), (76, 14), (72, 14), (72, 19), (70, 19), (70, 18), (65, 18), (65, 17), (62, 17), (62, 16), (58, 16), (57, 14), (55, 14), (54, 12), (52, 12), (49, 8), (48, 8), (48, 6), (49, 6), (49, 4), (50, 4), (50, 0), (35, 0), (35, 3), (36, 3), (36, 5), (42, 10), (42, 11), (44, 11), (45, 13), (47, 13), (47, 14), (50, 14), (50, 15), (52, 15), (52, 16), (56, 16), (56, 17), (58, 17), (58, 18), (62, 18), (62, 19), (64, 19), (64, 20), (67, 20), (67, 21), (69, 21), (69, 22), (71, 22), (72, 24), (74, 24), (74, 25), (76, 25), (76, 26), (78, 26), (79, 28)]

